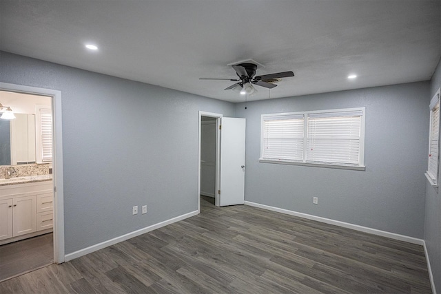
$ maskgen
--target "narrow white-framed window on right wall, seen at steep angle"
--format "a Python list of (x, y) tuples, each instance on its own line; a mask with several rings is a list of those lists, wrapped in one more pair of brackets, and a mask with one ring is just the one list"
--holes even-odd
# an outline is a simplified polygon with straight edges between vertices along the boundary
[(440, 144), (440, 89), (430, 102), (429, 160), (426, 177), (433, 186), (438, 186)]

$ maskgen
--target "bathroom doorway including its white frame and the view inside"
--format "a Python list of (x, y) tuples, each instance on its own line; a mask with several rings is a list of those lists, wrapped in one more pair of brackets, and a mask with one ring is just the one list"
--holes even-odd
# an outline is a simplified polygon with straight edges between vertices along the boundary
[[(64, 262), (64, 232), (63, 232), (63, 160), (62, 160), (62, 145), (61, 145), (61, 92), (56, 90), (48, 90), (37, 87), (28, 87), (23, 85), (14, 85), (8, 83), (0, 83), (1, 100), (5, 100), (9, 95), (8, 106), (10, 106), (19, 120), (14, 121), (12, 125), (28, 125), (28, 129), (31, 131), (32, 126), (34, 126), (36, 134), (34, 134), (34, 140), (36, 142), (30, 142), (32, 134), (28, 134), (28, 137), (21, 136), (22, 138), (12, 138), (14, 143), (11, 145), (10, 156), (13, 162), (10, 165), (3, 165), (3, 170), (10, 171), (8, 174), (12, 174), (13, 180), (19, 180), (20, 178), (24, 182), (17, 182), (17, 185), (10, 185), (11, 190), (2, 189), (0, 193), (0, 200), (3, 202), (9, 201), (16, 204), (18, 201), (26, 200), (26, 204), (21, 207), (27, 207), (23, 216), (28, 218), (26, 222), (30, 224), (30, 229), (28, 231), (17, 231), (17, 224), (14, 229), (13, 224), (15, 220), (18, 220), (20, 216), (19, 205), (5, 205), (6, 209), (10, 209), (12, 216), (10, 220), (12, 223), (9, 227), (6, 227), (6, 233), (8, 235), (3, 235), (0, 241), (0, 259), (2, 275), (0, 280), (8, 280), (11, 277), (21, 275), (28, 271), (33, 271), (44, 266), (48, 266), (54, 262), (62, 263)], [(29, 96), (28, 98), (34, 98), (34, 101), (28, 102), (28, 104), (20, 104), (19, 96)], [(12, 97), (12, 98), (11, 98)], [(48, 103), (41, 103), (47, 99)], [(28, 101), (30, 101), (28, 99)], [(1, 101), (3, 103), (3, 101)], [(32, 105), (31, 105), (32, 104)], [(15, 105), (14, 107), (12, 105)], [(38, 105), (38, 106), (37, 106)], [(46, 106), (47, 105), (47, 106)], [(39, 114), (32, 114), (32, 109)], [(49, 111), (45, 110), (49, 109)], [(34, 115), (34, 116), (33, 116)], [(45, 116), (41, 118), (41, 116)], [(51, 121), (48, 122), (47, 118)], [(52, 136), (50, 136), (50, 142), (52, 143), (50, 148), (48, 148), (48, 133), (46, 131), (41, 131), (41, 123), (45, 124), (43, 127), (48, 127), (52, 125)], [(17, 126), (15, 127), (17, 128)], [(11, 128), (11, 130), (14, 127)], [(41, 135), (41, 132), (44, 135)], [(32, 132), (30, 132), (32, 133)], [(23, 135), (22, 132), (19, 132)], [(41, 142), (44, 136), (45, 142)], [(30, 151), (21, 151), (21, 154), (17, 154), (17, 147), (20, 148), (21, 145), (17, 145), (22, 141), (28, 140)], [(15, 144), (15, 145), (14, 145)], [(39, 145), (41, 147), (45, 144), (44, 150), (37, 149)], [(36, 148), (32, 150), (32, 145)], [(28, 159), (23, 159), (23, 154), (29, 154)], [(32, 153), (35, 157), (32, 157)], [(41, 155), (43, 154), (43, 157)], [(52, 162), (48, 162), (45, 156), (52, 154)], [(1, 169), (1, 167), (0, 167)], [(27, 171), (32, 169), (32, 171)], [(11, 172), (12, 171), (12, 172)], [(53, 171), (53, 173), (52, 173)], [(29, 175), (26, 173), (30, 173)], [(39, 182), (32, 182), (32, 187), (28, 187), (29, 183), (26, 182), (28, 178), (35, 175), (39, 177)], [(52, 176), (52, 181), (50, 182)], [(3, 178), (3, 177), (0, 177)], [(15, 178), (15, 179), (14, 179)], [(41, 179), (40, 179), (41, 178)], [(25, 187), (25, 190), (21, 190)], [(15, 193), (17, 190), (19, 193)], [(35, 189), (35, 193), (28, 191), (26, 189)], [(23, 197), (21, 197), (21, 192), (23, 192)], [(12, 195), (10, 197), (9, 195)], [(16, 197), (17, 196), (17, 197)], [(6, 199), (11, 198), (11, 199)], [(27, 206), (26, 206), (27, 205)], [(16, 209), (15, 211), (13, 209)], [(32, 216), (30, 216), (29, 211), (32, 211)], [(3, 214), (3, 213), (2, 213)], [(9, 219), (9, 215), (6, 219)], [(2, 218), (3, 220), (3, 218)], [(53, 223), (53, 227), (52, 227)], [(32, 227), (34, 226), (34, 227)], [(8, 233), (8, 230), (12, 230), (12, 233)], [(8, 258), (3, 258), (3, 255), (8, 256)], [(8, 263), (6, 264), (3, 263)], [(7, 269), (7, 271), (6, 271)]]

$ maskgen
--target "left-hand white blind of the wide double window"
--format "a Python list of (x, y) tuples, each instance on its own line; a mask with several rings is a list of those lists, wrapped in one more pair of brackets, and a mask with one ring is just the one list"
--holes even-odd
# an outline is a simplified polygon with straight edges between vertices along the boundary
[(303, 114), (263, 118), (263, 158), (303, 160)]

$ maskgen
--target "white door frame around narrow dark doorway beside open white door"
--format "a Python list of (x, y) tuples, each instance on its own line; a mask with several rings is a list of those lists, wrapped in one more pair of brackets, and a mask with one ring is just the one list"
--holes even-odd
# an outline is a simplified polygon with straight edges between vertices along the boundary
[(219, 206), (219, 185), (220, 185), (220, 119), (223, 114), (216, 114), (214, 112), (199, 111), (199, 123), (198, 123), (198, 213), (201, 213), (201, 129), (202, 129), (202, 117), (216, 118), (216, 180), (214, 184), (214, 204)]

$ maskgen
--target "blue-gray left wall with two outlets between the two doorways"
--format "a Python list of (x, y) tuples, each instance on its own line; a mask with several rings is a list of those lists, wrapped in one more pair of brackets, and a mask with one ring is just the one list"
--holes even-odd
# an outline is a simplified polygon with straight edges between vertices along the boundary
[(232, 116), (232, 103), (7, 52), (0, 63), (4, 83), (61, 91), (66, 254), (198, 209), (198, 111)]

